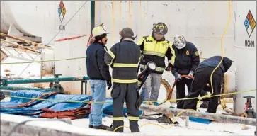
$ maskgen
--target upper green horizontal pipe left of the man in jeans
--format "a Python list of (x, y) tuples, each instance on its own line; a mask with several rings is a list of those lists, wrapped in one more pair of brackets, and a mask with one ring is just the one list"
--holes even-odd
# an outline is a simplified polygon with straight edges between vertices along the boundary
[(59, 81), (82, 81), (88, 80), (89, 77), (58, 77), (58, 78), (47, 78), (47, 79), (21, 79), (11, 80), (2, 79), (1, 85), (8, 86), (8, 84), (30, 84), (30, 83), (42, 83), (42, 82), (59, 82)]

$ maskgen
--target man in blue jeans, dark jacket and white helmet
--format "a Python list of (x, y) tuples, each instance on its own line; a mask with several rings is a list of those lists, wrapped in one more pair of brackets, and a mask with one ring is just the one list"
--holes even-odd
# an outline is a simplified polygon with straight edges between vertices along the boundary
[[(106, 98), (106, 82), (108, 89), (112, 86), (109, 67), (104, 62), (105, 44), (107, 43), (103, 24), (96, 26), (92, 31), (91, 45), (86, 50), (86, 69), (91, 86), (93, 103), (89, 115), (89, 128), (104, 129), (108, 126), (102, 124), (103, 103)], [(107, 50), (107, 49), (106, 49)]]

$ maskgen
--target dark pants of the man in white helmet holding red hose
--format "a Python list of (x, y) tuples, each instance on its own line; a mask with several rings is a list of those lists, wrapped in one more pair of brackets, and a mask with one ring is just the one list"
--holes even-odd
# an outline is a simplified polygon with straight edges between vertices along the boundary
[[(189, 91), (192, 81), (193, 79), (183, 78), (182, 80), (176, 83), (176, 90), (177, 90), (176, 99), (185, 98), (185, 85), (188, 87), (188, 91)], [(207, 95), (207, 91), (200, 92), (200, 96), (205, 96), (205, 95)], [(178, 100), (176, 101), (176, 103), (177, 103), (177, 108), (183, 108), (183, 101)]]

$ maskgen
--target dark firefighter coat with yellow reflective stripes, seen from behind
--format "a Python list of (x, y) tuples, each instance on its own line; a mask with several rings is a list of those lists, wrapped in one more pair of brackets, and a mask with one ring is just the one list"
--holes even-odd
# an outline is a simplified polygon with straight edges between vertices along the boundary
[(105, 53), (105, 63), (113, 68), (115, 83), (136, 83), (140, 48), (132, 39), (125, 38)]

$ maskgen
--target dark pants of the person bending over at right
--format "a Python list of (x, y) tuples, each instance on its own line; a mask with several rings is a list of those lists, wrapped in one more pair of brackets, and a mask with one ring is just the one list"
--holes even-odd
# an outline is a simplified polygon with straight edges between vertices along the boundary
[[(205, 67), (201, 69), (197, 69), (195, 73), (195, 79), (193, 79), (191, 88), (188, 92), (188, 96), (185, 98), (193, 98), (198, 97), (200, 91), (205, 88), (206, 84), (210, 84), (210, 75), (215, 68), (212, 67)], [(220, 69), (216, 69), (215, 72), (212, 74), (212, 86), (213, 86), (213, 94), (217, 95), (220, 94), (221, 89), (221, 81), (222, 81), (222, 71)], [(207, 108), (208, 113), (216, 113), (218, 103), (218, 96), (211, 97), (209, 101), (209, 105)], [(198, 99), (191, 99), (183, 101), (183, 108), (184, 109), (194, 109), (196, 110)]]

